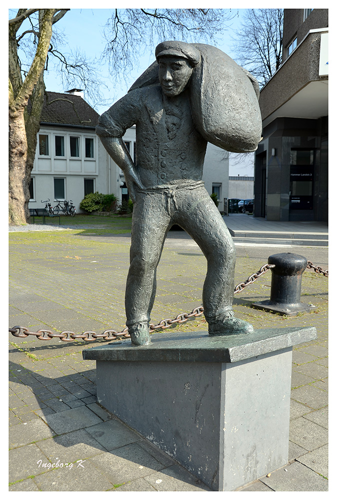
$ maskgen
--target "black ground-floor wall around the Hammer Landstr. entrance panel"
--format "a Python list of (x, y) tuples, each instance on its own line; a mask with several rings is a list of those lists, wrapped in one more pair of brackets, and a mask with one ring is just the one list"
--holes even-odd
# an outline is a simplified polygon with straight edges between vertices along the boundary
[[(267, 220), (327, 220), (327, 119), (277, 118), (255, 155), (254, 215)], [(310, 209), (290, 207), (291, 150), (313, 150)], [(273, 153), (273, 154), (272, 154)]]

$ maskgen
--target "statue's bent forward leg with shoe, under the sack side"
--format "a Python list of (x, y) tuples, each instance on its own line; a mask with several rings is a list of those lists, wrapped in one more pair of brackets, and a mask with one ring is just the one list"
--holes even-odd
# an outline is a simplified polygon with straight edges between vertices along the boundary
[[(197, 202), (195, 201), (197, 200)], [(200, 187), (187, 193), (185, 215), (179, 223), (192, 236), (207, 259), (202, 291), (204, 315), (210, 335), (250, 333), (250, 323), (235, 318), (235, 247), (223, 218), (207, 191)]]

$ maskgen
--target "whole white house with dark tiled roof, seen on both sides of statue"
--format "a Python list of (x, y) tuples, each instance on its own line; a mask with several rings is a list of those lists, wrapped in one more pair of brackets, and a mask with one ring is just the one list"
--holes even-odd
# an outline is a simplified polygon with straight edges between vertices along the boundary
[[(34, 166), (31, 171), (29, 208), (43, 207), (41, 200), (71, 199), (79, 203), (89, 192), (127, 196), (124, 175), (95, 134), (98, 113), (82, 98), (79, 89), (46, 92)], [(135, 126), (123, 136), (135, 158)], [(202, 179), (209, 194), (216, 192), (219, 210), (228, 197), (228, 154), (208, 144)]]

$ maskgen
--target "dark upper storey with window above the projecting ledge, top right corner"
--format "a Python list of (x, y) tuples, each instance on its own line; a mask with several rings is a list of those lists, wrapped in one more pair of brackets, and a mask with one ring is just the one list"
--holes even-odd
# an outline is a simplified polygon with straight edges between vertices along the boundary
[(286, 47), (297, 35), (297, 45), (302, 41), (310, 29), (325, 28), (328, 26), (328, 9), (314, 8), (303, 22), (303, 8), (285, 8), (283, 20), (283, 47), (282, 60), (286, 59)]

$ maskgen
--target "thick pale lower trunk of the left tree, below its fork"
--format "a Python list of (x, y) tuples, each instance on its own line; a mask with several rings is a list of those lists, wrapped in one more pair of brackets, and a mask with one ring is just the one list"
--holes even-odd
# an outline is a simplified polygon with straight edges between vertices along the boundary
[(29, 180), (26, 178), (27, 140), (24, 108), (9, 112), (9, 205), (10, 224), (29, 221)]

